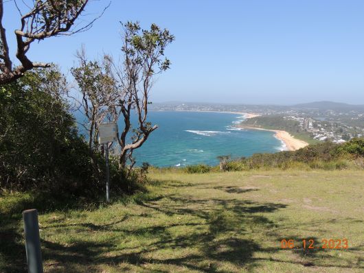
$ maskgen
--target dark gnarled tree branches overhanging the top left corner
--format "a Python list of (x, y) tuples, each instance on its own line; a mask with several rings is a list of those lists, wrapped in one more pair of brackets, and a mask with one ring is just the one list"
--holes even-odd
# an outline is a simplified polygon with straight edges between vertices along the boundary
[(30, 3), (23, 1), (26, 7), (32, 6), (26, 12), (14, 0), (21, 16), (19, 22), (21, 27), (14, 31), (17, 45), (16, 58), (20, 64), (13, 67), (7, 35), (3, 26), (3, 2), (0, 0), (0, 84), (21, 78), (25, 71), (30, 69), (49, 67), (49, 64), (45, 62), (33, 62), (28, 58), (27, 52), (34, 41), (87, 30), (97, 19), (93, 19), (90, 23), (77, 29), (73, 27), (76, 20), (84, 14), (89, 0), (33, 0), (29, 1)]

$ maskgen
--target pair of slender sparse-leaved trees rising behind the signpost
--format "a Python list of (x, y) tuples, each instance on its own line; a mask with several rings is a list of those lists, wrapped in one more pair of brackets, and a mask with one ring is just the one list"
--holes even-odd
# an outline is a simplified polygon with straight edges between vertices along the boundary
[[(146, 30), (141, 29), (139, 23), (128, 22), (123, 25), (123, 30), (120, 63), (106, 55), (102, 62), (89, 62), (78, 54), (80, 62), (73, 68), (73, 76), (82, 94), (80, 105), (89, 121), (89, 136), (95, 137), (98, 124), (106, 119), (117, 122), (123, 118), (124, 124), (117, 132), (119, 163), (124, 169), (126, 162), (130, 161), (131, 169), (135, 165), (133, 150), (141, 147), (158, 128), (147, 119), (149, 93), (155, 75), (170, 67), (170, 60), (163, 56), (174, 36), (155, 24)], [(132, 124), (133, 115), (137, 117), (137, 124)]]

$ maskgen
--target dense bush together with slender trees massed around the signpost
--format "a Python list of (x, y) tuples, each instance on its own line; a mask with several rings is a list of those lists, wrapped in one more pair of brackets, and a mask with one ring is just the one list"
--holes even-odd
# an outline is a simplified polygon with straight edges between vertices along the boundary
[[(163, 52), (174, 36), (155, 24), (141, 29), (139, 23), (128, 22), (123, 29), (120, 64), (110, 56), (92, 62), (84, 51), (78, 54), (79, 65), (71, 72), (80, 101), (71, 95), (74, 91), (65, 75), (54, 65), (27, 71), (1, 85), (1, 189), (97, 200), (104, 188), (104, 147), (98, 143), (98, 126), (119, 119), (124, 126), (115, 141), (120, 150), (111, 158), (111, 185), (115, 193), (138, 188), (135, 181), (143, 177), (143, 169), (133, 169), (133, 150), (157, 129), (148, 121), (148, 97), (153, 77), (170, 66)], [(71, 115), (75, 107), (87, 117), (82, 123), (86, 137), (78, 132)], [(137, 113), (136, 123), (130, 121), (132, 112)]]

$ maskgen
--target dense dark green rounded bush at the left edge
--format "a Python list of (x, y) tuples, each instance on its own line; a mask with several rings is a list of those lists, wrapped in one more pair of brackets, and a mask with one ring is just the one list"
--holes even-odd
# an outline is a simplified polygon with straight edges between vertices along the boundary
[(52, 67), (1, 87), (1, 187), (73, 193), (97, 187), (87, 145), (61, 99), (64, 82)]

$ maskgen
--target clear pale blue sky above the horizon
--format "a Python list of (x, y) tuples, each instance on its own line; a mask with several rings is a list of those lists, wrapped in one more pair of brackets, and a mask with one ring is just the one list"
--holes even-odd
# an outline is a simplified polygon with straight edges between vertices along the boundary
[[(19, 0), (18, 2), (21, 2)], [(91, 1), (84, 22), (109, 1)], [(4, 3), (15, 61), (19, 14)], [(91, 29), (34, 43), (33, 61), (55, 62), (69, 75), (76, 50), (117, 57), (120, 21), (168, 28), (170, 70), (158, 76), (152, 102), (297, 104), (330, 100), (364, 104), (364, 1), (112, 0)]]

